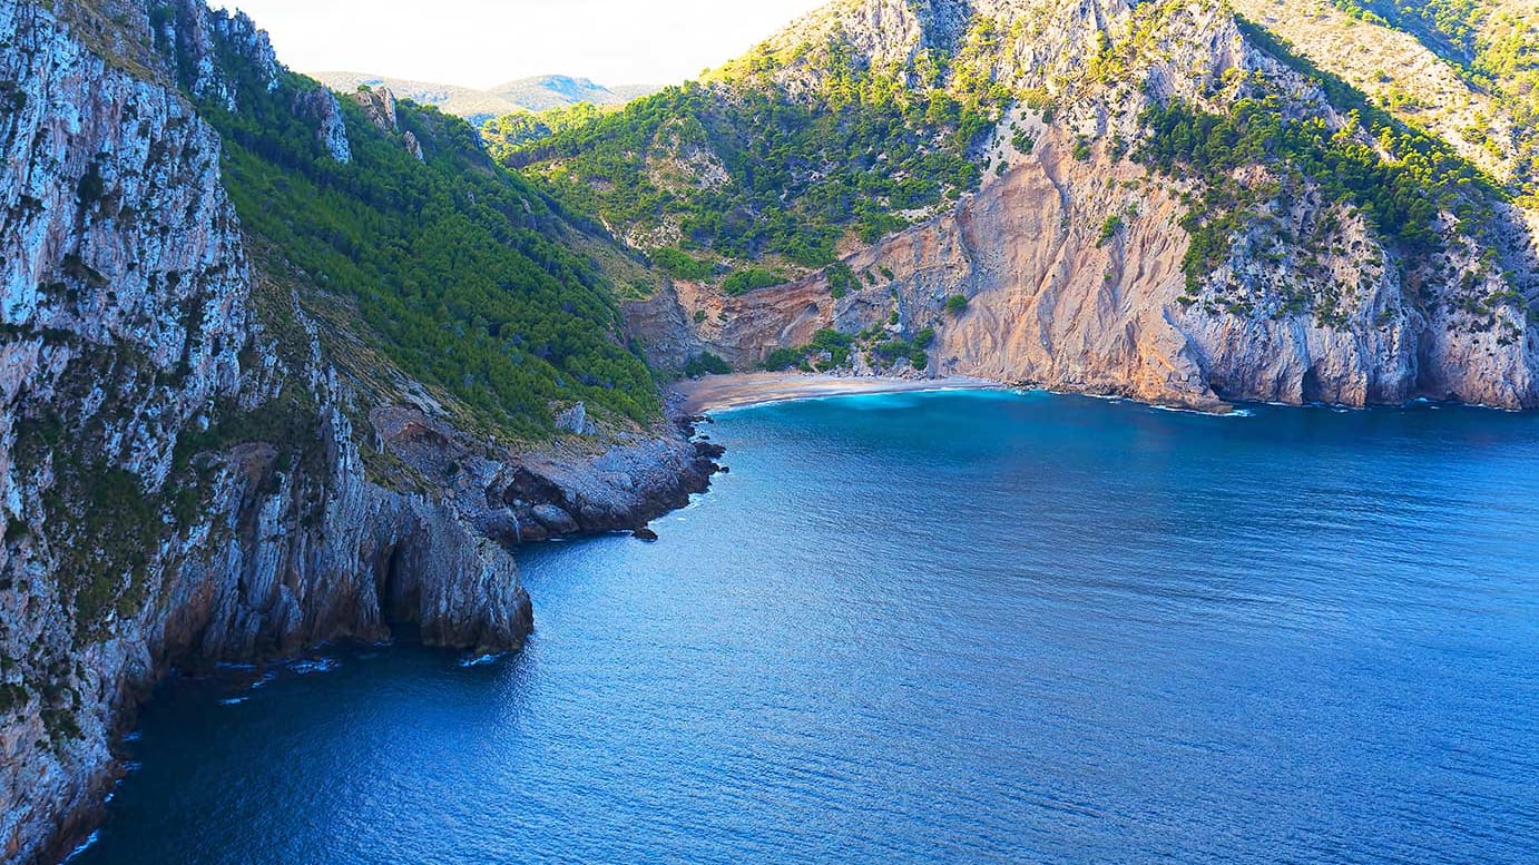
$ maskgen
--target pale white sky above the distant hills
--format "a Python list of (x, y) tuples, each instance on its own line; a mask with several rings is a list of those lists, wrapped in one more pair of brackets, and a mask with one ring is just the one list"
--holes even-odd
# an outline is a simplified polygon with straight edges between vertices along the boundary
[(214, 0), (245, 9), (300, 72), (472, 88), (543, 74), (671, 85), (826, 0)]

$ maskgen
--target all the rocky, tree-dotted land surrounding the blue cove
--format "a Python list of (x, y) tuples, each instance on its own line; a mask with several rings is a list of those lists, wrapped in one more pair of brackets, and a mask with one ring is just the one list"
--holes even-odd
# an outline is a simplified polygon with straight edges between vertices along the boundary
[(8, 862), (171, 670), (517, 650), (512, 549), (720, 469), (685, 379), (1539, 406), (1522, 0), (836, 0), (656, 92), (368, 78), (0, 0)]

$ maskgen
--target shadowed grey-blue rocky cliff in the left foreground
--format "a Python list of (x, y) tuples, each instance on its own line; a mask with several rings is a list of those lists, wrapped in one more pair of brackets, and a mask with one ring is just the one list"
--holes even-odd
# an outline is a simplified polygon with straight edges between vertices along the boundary
[[(175, 86), (237, 111), (214, 58), (271, 78), (266, 37), (194, 2), (109, 6), (0, 0), (6, 862), (91, 827), (114, 737), (172, 666), (396, 623), (517, 648), (506, 540), (639, 525), (711, 468), (666, 428), (514, 454), (371, 405), (252, 266), (219, 135)], [(337, 100), (295, 108), (345, 160)]]

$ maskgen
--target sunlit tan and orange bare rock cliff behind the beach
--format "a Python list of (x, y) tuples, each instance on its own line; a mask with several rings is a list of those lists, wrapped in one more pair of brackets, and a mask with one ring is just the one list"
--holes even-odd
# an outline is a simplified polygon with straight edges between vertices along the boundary
[[(1511, 205), (1493, 205), (1477, 235), (1445, 212), (1436, 251), (1408, 251), (1305, 183), (1265, 202), (1222, 262), (1188, 283), (1180, 223), (1200, 188), (1133, 160), (1147, 108), (1183, 100), (1224, 112), (1265, 91), (1328, 128), (1354, 123), (1228, 8), (853, 2), (777, 45), (834, 34), (873, 63), (899, 63), (926, 46), (966, 51), (985, 20), (986, 32), (1007, 34), (980, 55), (990, 74), (1037, 94), (1039, 108), (1017, 103), (1000, 122), (979, 154), (991, 168), (982, 188), (873, 246), (846, 246), (856, 279), (842, 297), (822, 272), (742, 297), (677, 282), (631, 305), (633, 332), (659, 363), (711, 351), (753, 366), (823, 328), (877, 339), (933, 328), (930, 368), (899, 372), (1205, 409), (1414, 397), (1539, 405), (1531, 215)], [(806, 75), (797, 65), (777, 72), (793, 94), (816, 89)], [(1273, 180), (1264, 166), (1247, 171)], [(965, 311), (946, 311), (954, 296)], [(853, 366), (870, 371), (871, 360), (857, 351)]]

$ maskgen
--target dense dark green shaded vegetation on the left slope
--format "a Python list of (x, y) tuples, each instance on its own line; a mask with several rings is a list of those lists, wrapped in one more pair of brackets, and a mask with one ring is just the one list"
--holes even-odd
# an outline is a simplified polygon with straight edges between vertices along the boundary
[[(400, 132), (340, 100), (342, 163), (294, 105), (317, 85), (283, 72), (268, 91), (229, 63), (239, 109), (202, 100), (225, 139), (225, 180), (245, 228), (314, 285), (357, 305), (402, 371), (516, 436), (554, 429), (553, 405), (645, 422), (660, 411), (646, 365), (617, 337), (608, 279), (569, 243), (539, 191), (482, 154), (476, 131), (400, 103)], [(411, 134), (425, 162), (403, 146)]]

